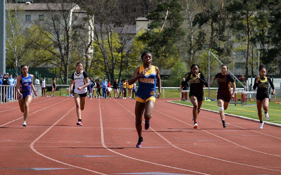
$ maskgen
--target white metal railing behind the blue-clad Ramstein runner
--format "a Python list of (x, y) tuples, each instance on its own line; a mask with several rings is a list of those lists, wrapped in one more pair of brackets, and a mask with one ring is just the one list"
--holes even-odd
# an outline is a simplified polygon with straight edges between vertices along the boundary
[[(37, 91), (37, 95), (41, 96), (42, 89), (40, 85), (34, 85), (35, 90)], [(32, 97), (36, 98), (34, 93), (32, 93)], [(0, 104), (9, 103), (18, 101), (18, 92), (16, 91), (16, 86), (10, 85), (0, 85)]]

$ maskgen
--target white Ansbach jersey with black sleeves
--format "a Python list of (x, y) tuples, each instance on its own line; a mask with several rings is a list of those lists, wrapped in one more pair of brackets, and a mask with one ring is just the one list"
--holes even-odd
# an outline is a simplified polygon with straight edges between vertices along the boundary
[(77, 71), (76, 71), (71, 75), (71, 79), (73, 79), (74, 83), (75, 83), (74, 93), (84, 94), (87, 92), (87, 87), (85, 87), (81, 90), (77, 89), (77, 88), (81, 88), (82, 86), (84, 86), (86, 84), (85, 78), (87, 78), (87, 77), (88, 77), (88, 75), (84, 71), (81, 71), (80, 73), (77, 73)]

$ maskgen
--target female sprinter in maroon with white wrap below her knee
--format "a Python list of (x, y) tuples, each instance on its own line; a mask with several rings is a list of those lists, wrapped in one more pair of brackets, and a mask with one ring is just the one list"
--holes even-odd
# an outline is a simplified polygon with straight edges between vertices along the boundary
[[(220, 111), (220, 118), (224, 128), (227, 127), (224, 121), (224, 110), (228, 108), (228, 104), (230, 100), (234, 98), (235, 89), (236, 89), (236, 84), (234, 82), (234, 79), (232, 75), (227, 73), (227, 70), (228, 70), (227, 65), (225, 64), (221, 65), (220, 66), (221, 73), (218, 73), (214, 78), (212, 78), (212, 81), (210, 83), (210, 86), (212, 86), (214, 80), (218, 79), (219, 89), (216, 97), (217, 97), (217, 103)], [(230, 82), (232, 83), (232, 87), (233, 87), (232, 94), (230, 90)]]

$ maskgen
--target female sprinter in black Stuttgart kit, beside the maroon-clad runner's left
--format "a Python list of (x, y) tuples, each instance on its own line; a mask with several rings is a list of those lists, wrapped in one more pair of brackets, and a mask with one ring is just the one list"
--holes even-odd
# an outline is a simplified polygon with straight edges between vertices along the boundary
[(203, 87), (208, 86), (207, 79), (205, 75), (199, 70), (200, 66), (198, 64), (192, 64), (191, 65), (191, 71), (185, 74), (187, 76), (185, 84), (190, 81), (190, 92), (189, 92), (189, 99), (191, 103), (193, 104), (193, 120), (194, 120), (194, 126), (193, 128), (198, 128), (197, 124), (197, 115), (200, 112), (200, 108), (203, 102), (204, 98), (204, 92)]

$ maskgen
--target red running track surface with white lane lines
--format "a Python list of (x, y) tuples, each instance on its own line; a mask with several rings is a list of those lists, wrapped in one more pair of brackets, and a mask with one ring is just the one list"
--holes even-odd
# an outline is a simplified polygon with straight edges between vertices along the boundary
[(281, 174), (281, 128), (157, 99), (143, 148), (135, 148), (135, 100), (33, 99), (27, 127), (18, 103), (0, 105), (0, 174)]

